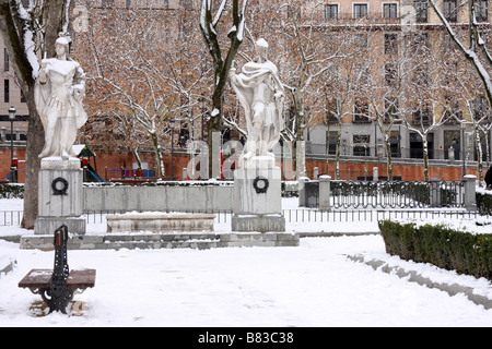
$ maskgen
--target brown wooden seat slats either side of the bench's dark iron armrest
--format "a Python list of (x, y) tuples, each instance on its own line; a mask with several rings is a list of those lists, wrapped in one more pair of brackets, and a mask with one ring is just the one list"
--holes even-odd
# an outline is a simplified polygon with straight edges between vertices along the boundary
[[(49, 288), (52, 269), (32, 269), (19, 282), (22, 288)], [(87, 288), (95, 285), (95, 269), (70, 270), (67, 288)]]

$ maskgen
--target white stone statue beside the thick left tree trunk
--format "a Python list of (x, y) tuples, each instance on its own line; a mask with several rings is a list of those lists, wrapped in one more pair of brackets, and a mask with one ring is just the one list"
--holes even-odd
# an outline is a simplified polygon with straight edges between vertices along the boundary
[(69, 57), (69, 41), (59, 37), (55, 44), (56, 58), (42, 60), (35, 85), (37, 111), (45, 129), (45, 146), (39, 158), (77, 156), (72, 151), (77, 130), (85, 121), (82, 99), (85, 95), (85, 74)]

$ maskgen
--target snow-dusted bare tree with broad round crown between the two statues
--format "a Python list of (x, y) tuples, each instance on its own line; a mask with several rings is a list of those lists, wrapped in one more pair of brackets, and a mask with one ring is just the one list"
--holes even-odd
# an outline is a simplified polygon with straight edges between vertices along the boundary
[[(116, 121), (112, 123), (114, 129), (118, 128), (115, 145), (121, 145), (118, 135), (129, 135), (130, 143), (126, 144), (137, 160), (133, 145), (139, 143), (136, 137), (143, 135), (144, 144), (154, 153), (155, 176), (162, 177), (163, 156), (169, 152), (171, 135), (175, 132), (169, 127), (171, 119), (191, 121), (208, 71), (201, 63), (198, 43), (192, 40), (198, 33), (190, 25), (191, 14), (181, 10), (110, 9), (93, 11), (92, 15), (97, 21), (85, 38), (90, 49), (79, 52), (86, 61), (95, 62), (92, 64), (95, 69), (89, 70), (87, 75), (91, 84), (104, 91), (89, 97), (92, 115)], [(109, 17), (109, 29), (107, 19), (101, 16)]]

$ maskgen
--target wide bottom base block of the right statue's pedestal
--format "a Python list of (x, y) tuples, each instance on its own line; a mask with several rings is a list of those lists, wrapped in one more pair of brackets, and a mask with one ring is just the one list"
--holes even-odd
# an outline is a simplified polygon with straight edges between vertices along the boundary
[(232, 231), (285, 231), (285, 218), (282, 215), (233, 215)]

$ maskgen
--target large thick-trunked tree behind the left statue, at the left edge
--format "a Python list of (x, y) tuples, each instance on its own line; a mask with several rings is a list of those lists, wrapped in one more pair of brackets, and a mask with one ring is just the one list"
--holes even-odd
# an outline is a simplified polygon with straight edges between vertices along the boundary
[(26, 229), (33, 229), (38, 215), (38, 155), (45, 143), (43, 124), (34, 103), (34, 83), (39, 70), (37, 58), (40, 52), (47, 52), (49, 57), (55, 53), (58, 33), (68, 27), (66, 14), (69, 4), (70, 0), (32, 0), (24, 8), (19, 0), (0, 0), (0, 33), (30, 110), (22, 219), (22, 227)]

